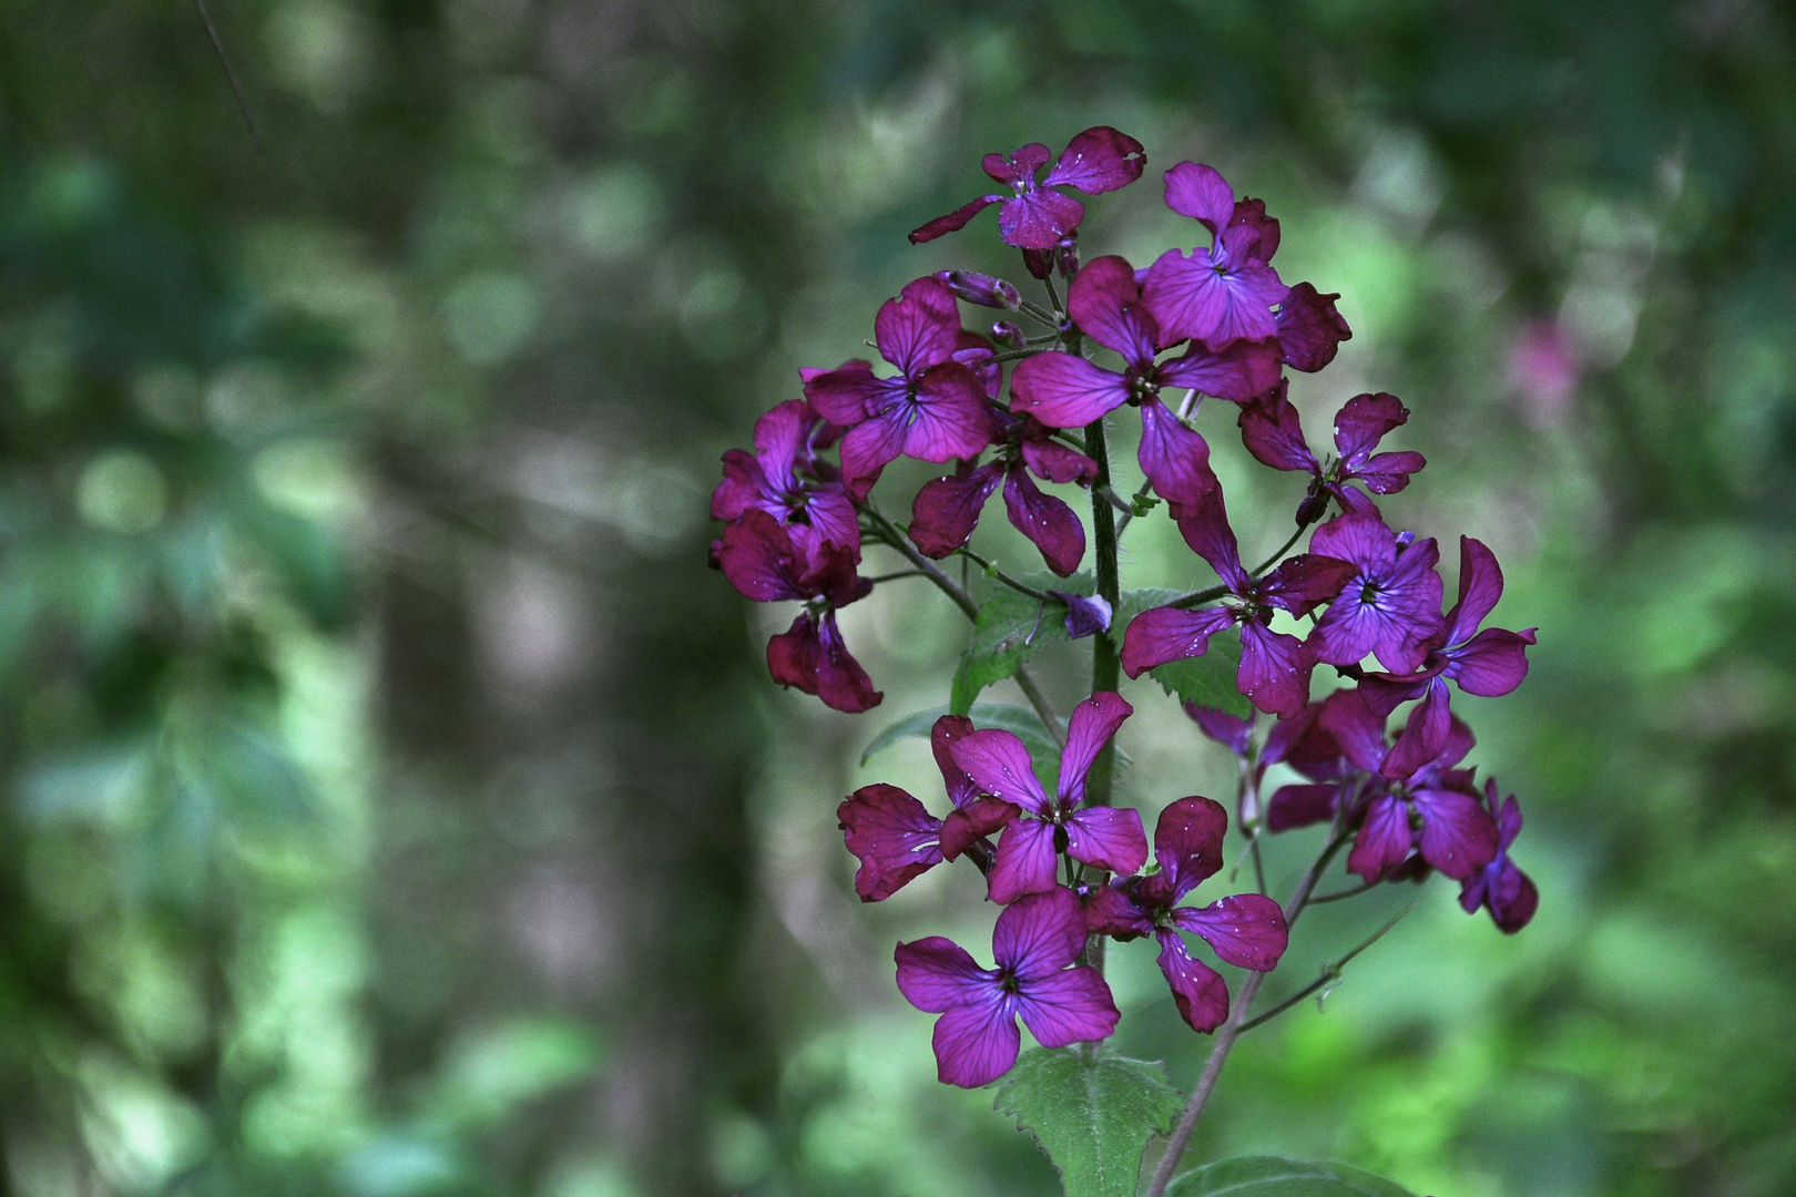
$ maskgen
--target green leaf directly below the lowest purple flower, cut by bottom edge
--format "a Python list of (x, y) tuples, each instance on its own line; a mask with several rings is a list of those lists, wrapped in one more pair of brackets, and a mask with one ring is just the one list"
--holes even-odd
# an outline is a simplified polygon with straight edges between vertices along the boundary
[(1148, 1136), (1166, 1131), (1184, 1100), (1160, 1064), (1033, 1048), (1004, 1077), (993, 1105), (1034, 1134), (1067, 1197), (1135, 1197)]

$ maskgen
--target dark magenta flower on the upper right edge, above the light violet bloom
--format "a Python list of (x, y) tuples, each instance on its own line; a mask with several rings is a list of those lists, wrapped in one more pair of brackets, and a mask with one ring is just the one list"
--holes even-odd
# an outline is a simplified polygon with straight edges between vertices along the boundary
[(1395, 395), (1354, 395), (1334, 416), (1334, 447), (1340, 458), (1322, 463), (1309, 450), (1297, 407), (1281, 384), (1241, 409), (1241, 443), (1275, 470), (1309, 472), (1313, 481), (1309, 497), (1299, 508), (1299, 522), (1322, 519), (1329, 495), (1342, 504), (1342, 511), (1378, 515), (1378, 506), (1347, 483), (1361, 483), (1376, 495), (1390, 495), (1410, 485), (1410, 474), (1428, 465), (1422, 454), (1372, 452), (1390, 429), (1408, 418), (1410, 411)]

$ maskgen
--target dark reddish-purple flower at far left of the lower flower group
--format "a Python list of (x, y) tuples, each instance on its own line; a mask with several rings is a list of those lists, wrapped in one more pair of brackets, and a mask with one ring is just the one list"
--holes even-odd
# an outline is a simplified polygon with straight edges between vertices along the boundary
[(929, 734), (936, 766), (954, 804), (948, 818), (936, 818), (907, 791), (887, 784), (862, 786), (835, 809), (848, 851), (860, 860), (855, 872), (860, 901), (885, 901), (912, 878), (981, 843), (975, 860), (982, 861), (981, 869), (990, 865), (991, 845), (984, 836), (1013, 820), (1018, 811), (1009, 802), (979, 797), (979, 788), (954, 763), (950, 748), (972, 730), (972, 720), (945, 714)]

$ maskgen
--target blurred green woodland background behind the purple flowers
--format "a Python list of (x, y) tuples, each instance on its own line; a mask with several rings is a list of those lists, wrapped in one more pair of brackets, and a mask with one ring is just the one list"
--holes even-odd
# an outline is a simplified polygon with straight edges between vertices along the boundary
[[(1415, 894), (1248, 1037), (1196, 1154), (1796, 1192), (1787, 5), (214, 4), (264, 153), (185, 0), (0, 7), (0, 1186), (1056, 1192), (891, 985), (898, 937), (982, 951), (977, 885), (860, 906), (835, 831), (875, 779), (939, 806), (921, 741), (857, 757), (964, 625), (882, 587), (842, 623), (885, 703), (781, 693), (790, 612), (704, 569), (704, 504), (905, 280), (1020, 275), (990, 215), (903, 239), (981, 153), (1103, 122), (1149, 176), (1087, 255), (1194, 239), (1180, 158), (1264, 196), (1354, 328), (1293, 384), (1313, 440), (1401, 395), (1430, 467), (1387, 513), (1449, 569), (1487, 540), (1496, 623), (1541, 626), (1518, 696), (1467, 703), (1539, 919)], [(1297, 481), (1230, 415), (1270, 547)], [(1122, 567), (1202, 581), (1164, 517)], [(1227, 800), (1128, 695), (1121, 793)], [(1270, 992), (1410, 897), (1318, 910)], [(1121, 1046), (1189, 1084), (1151, 949), (1112, 960)]]

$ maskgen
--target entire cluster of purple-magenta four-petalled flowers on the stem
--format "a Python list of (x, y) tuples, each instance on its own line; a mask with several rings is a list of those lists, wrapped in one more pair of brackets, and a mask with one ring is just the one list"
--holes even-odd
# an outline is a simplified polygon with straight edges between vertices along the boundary
[[(1455, 693), (1514, 691), (1534, 630), (1483, 626), (1503, 574), (1491, 549), (1469, 537), (1460, 537), (1458, 599), (1442, 612), (1437, 542), (1394, 528), (1379, 511), (1374, 495), (1404, 490), (1426, 465), (1417, 452), (1381, 449), (1410, 416), (1403, 402), (1385, 393), (1347, 400), (1334, 416), (1333, 452), (1318, 456), (1288, 395), (1288, 370), (1325, 368), (1352, 336), (1334, 307), (1340, 296), (1282, 282), (1272, 264), (1279, 223), (1193, 162), (1166, 170), (1164, 196), (1196, 223), (1202, 244), (1169, 248), (1146, 267), (1114, 255), (1081, 264), (1085, 205), (1065, 188), (1099, 196), (1133, 183), (1142, 147), (1094, 127), (1052, 167), (1049, 160), (1040, 144), (988, 154), (984, 170), (1008, 194), (981, 196), (911, 233), (929, 242), (1000, 205), (1000, 237), (1022, 251), (1045, 301), (968, 271), (916, 278), (875, 316), (873, 345), (885, 366), (851, 359), (801, 370), (803, 397), (760, 418), (753, 454), (724, 456), (711, 501), (726, 520), (711, 558), (729, 583), (756, 601), (803, 603), (790, 630), (767, 646), (774, 680), (850, 712), (880, 702), (835, 617), (876, 581), (858, 571), (864, 540), (911, 565), (880, 583), (929, 580), (966, 614), (979, 610), (977, 599), (934, 562), (970, 556), (999, 488), (1009, 522), (1056, 576), (1074, 574), (1096, 546), (1097, 594), (1043, 592), (981, 560), (984, 576), (1029, 594), (1042, 610), (1065, 603), (1072, 635), (1096, 635), (1094, 693), (1061, 721), (1026, 691), (1045, 732), (1034, 752), (1013, 730), (979, 727), (968, 718), (970, 698), (938, 718), (930, 745), (948, 802), (943, 817), (891, 784), (864, 786), (839, 808), (862, 901), (884, 901), (936, 865), (966, 858), (1002, 906), (990, 969), (941, 937), (896, 948), (898, 987), (920, 1010), (941, 1016), (939, 1075), (957, 1086), (1011, 1068), (1018, 1018), (1045, 1046), (1112, 1034), (1119, 1012), (1101, 973), (1103, 937), (1155, 939), (1173, 1003), (1194, 1030), (1239, 1021), (1245, 1009), (1232, 1009), (1223, 974), (1193, 955), (1187, 937), (1248, 974), (1272, 971), (1307, 885), (1336, 849), (1347, 849), (1345, 867), (1363, 888), (1440, 872), (1460, 883), (1467, 912), (1489, 910), (1503, 931), (1525, 926), (1539, 903), (1510, 860), (1521, 829), (1516, 800), (1500, 802), (1494, 781), (1478, 784), (1462, 766), (1473, 734), (1453, 709)], [(963, 327), (963, 303), (1006, 318), (982, 334)], [(1026, 336), (1011, 318), (1040, 332)], [(1237, 406), (1252, 458), (1307, 477), (1297, 533), (1254, 569), (1241, 560), (1211, 447), (1189, 424), (1205, 398)], [(1105, 429), (1122, 407), (1140, 415), (1142, 486), (1133, 502), (1108, 485)], [(873, 499), (898, 458), (952, 463), (914, 495), (909, 524)], [(1092, 537), (1074, 506), (1045, 486), (1090, 492)], [(1114, 511), (1142, 515), (1155, 506), (1149, 495), (1218, 585), (1137, 605), (1126, 626), (1110, 628), (1124, 608)], [(1185, 904), (1223, 867), (1228, 813), (1212, 799), (1182, 797), (1160, 811), (1151, 861), (1140, 813), (1110, 804), (1112, 739), (1133, 712), (1115, 693), (1117, 671), (1139, 678), (1205, 657), (1223, 633), (1239, 637), (1234, 678), (1246, 714), (1194, 703), (1187, 711), (1241, 763), (1237, 829), (1252, 843), (1261, 833), (1327, 827), (1311, 876), (1284, 906), (1264, 892)], [(1275, 716), (1266, 734), (1261, 716)], [(1043, 759), (1049, 741), (1058, 759)], [(1263, 799), (1273, 768), (1295, 781)], [(1241, 991), (1246, 1001), (1255, 989), (1248, 982)]]

